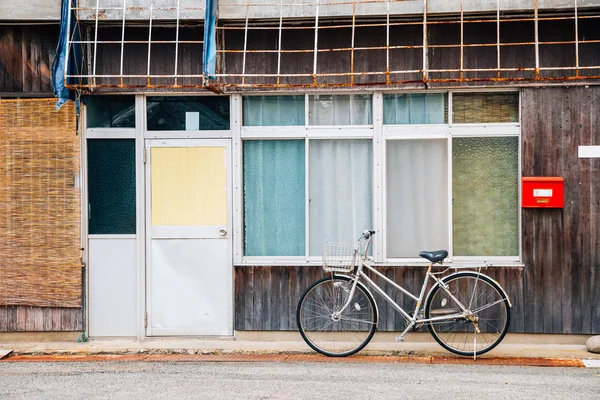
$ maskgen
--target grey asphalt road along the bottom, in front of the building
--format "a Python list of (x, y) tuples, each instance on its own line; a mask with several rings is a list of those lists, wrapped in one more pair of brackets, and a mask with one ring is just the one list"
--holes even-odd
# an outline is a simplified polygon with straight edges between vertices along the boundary
[(600, 370), (382, 363), (0, 362), (0, 399), (600, 399)]

